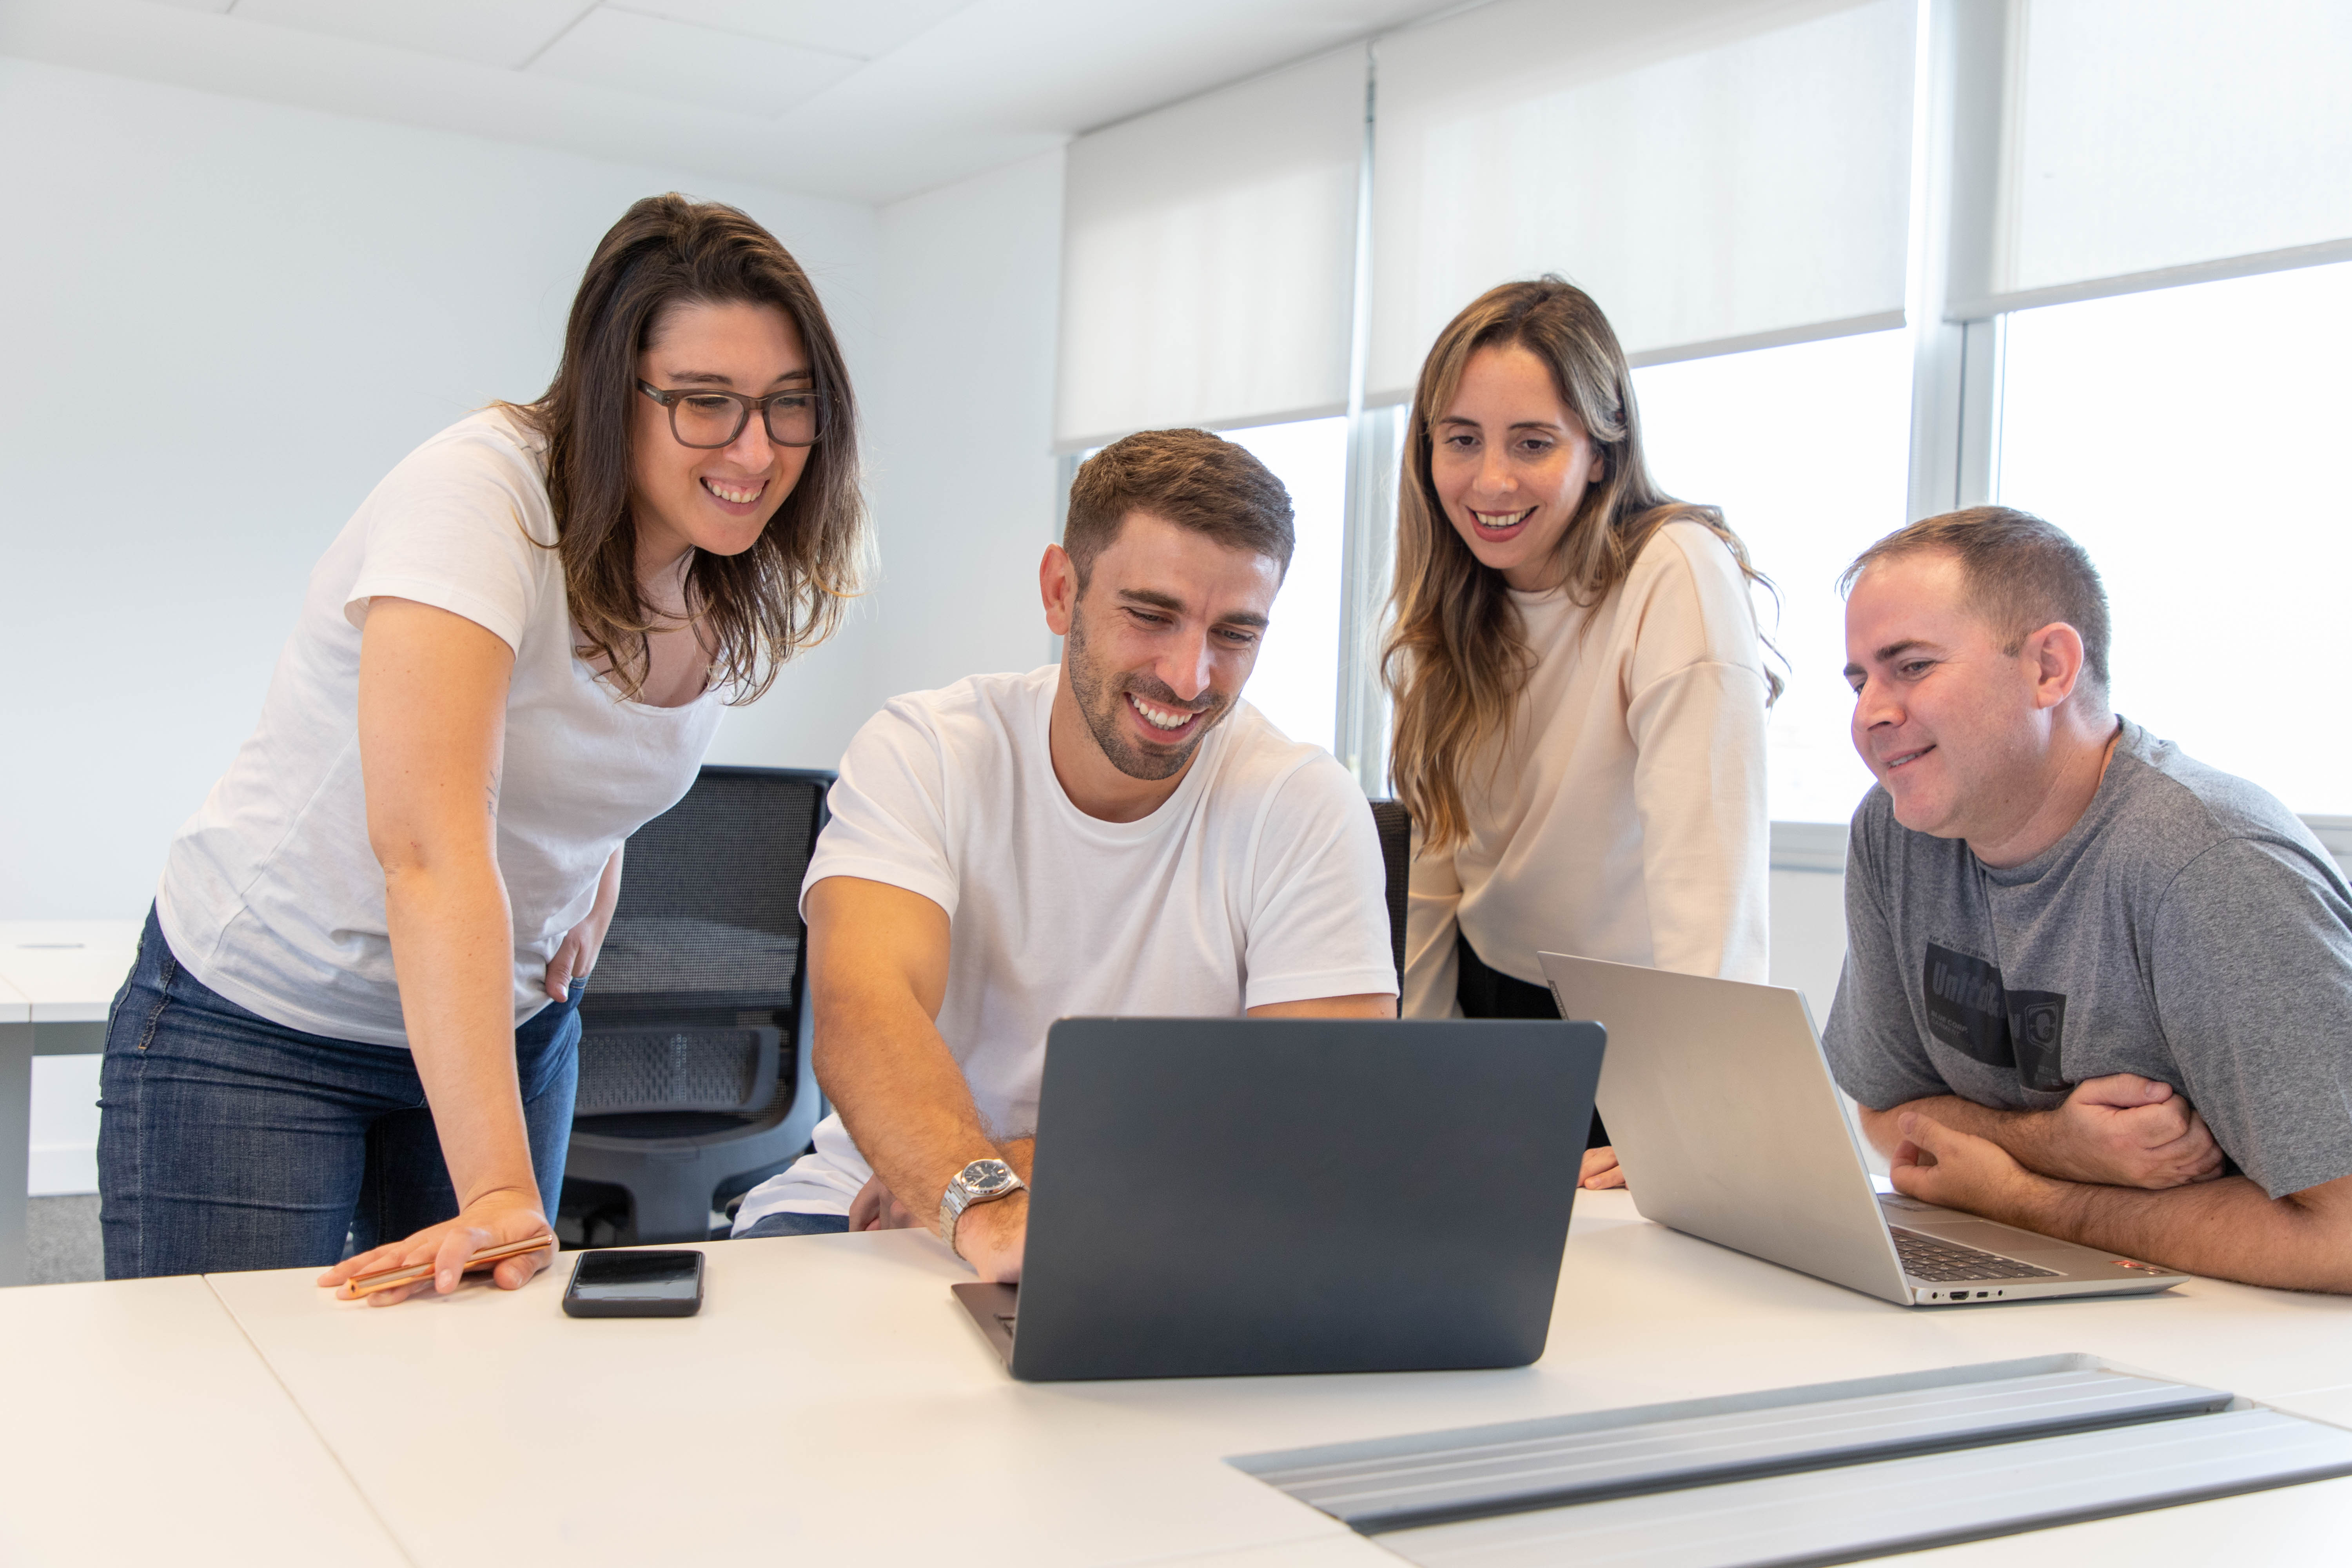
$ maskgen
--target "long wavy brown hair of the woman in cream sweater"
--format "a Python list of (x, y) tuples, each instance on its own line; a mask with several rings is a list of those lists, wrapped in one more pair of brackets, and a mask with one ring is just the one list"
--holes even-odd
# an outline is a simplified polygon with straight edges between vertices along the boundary
[[(1468, 837), (1463, 778), (1475, 759), (1498, 762), (1536, 670), (1503, 574), (1482, 567), (1454, 531), (1430, 477), (1430, 430), (1461, 390), (1470, 355), (1496, 346), (1526, 348), (1550, 364), (1559, 402), (1602, 456), (1602, 477), (1585, 487), (1559, 538), (1576, 604), (1606, 599), (1668, 522), (1703, 524), (1729, 545), (1748, 581), (1771, 585), (1748, 564), (1748, 548), (1717, 508), (1675, 501), (1649, 477), (1632, 369), (1592, 296), (1550, 275), (1479, 294), (1437, 334), (1414, 386), (1397, 484), (1397, 583), (1381, 654), (1381, 679), (1397, 705), (1388, 773), (1428, 849)], [(1764, 679), (1778, 698), (1780, 677), (1766, 670)]]

